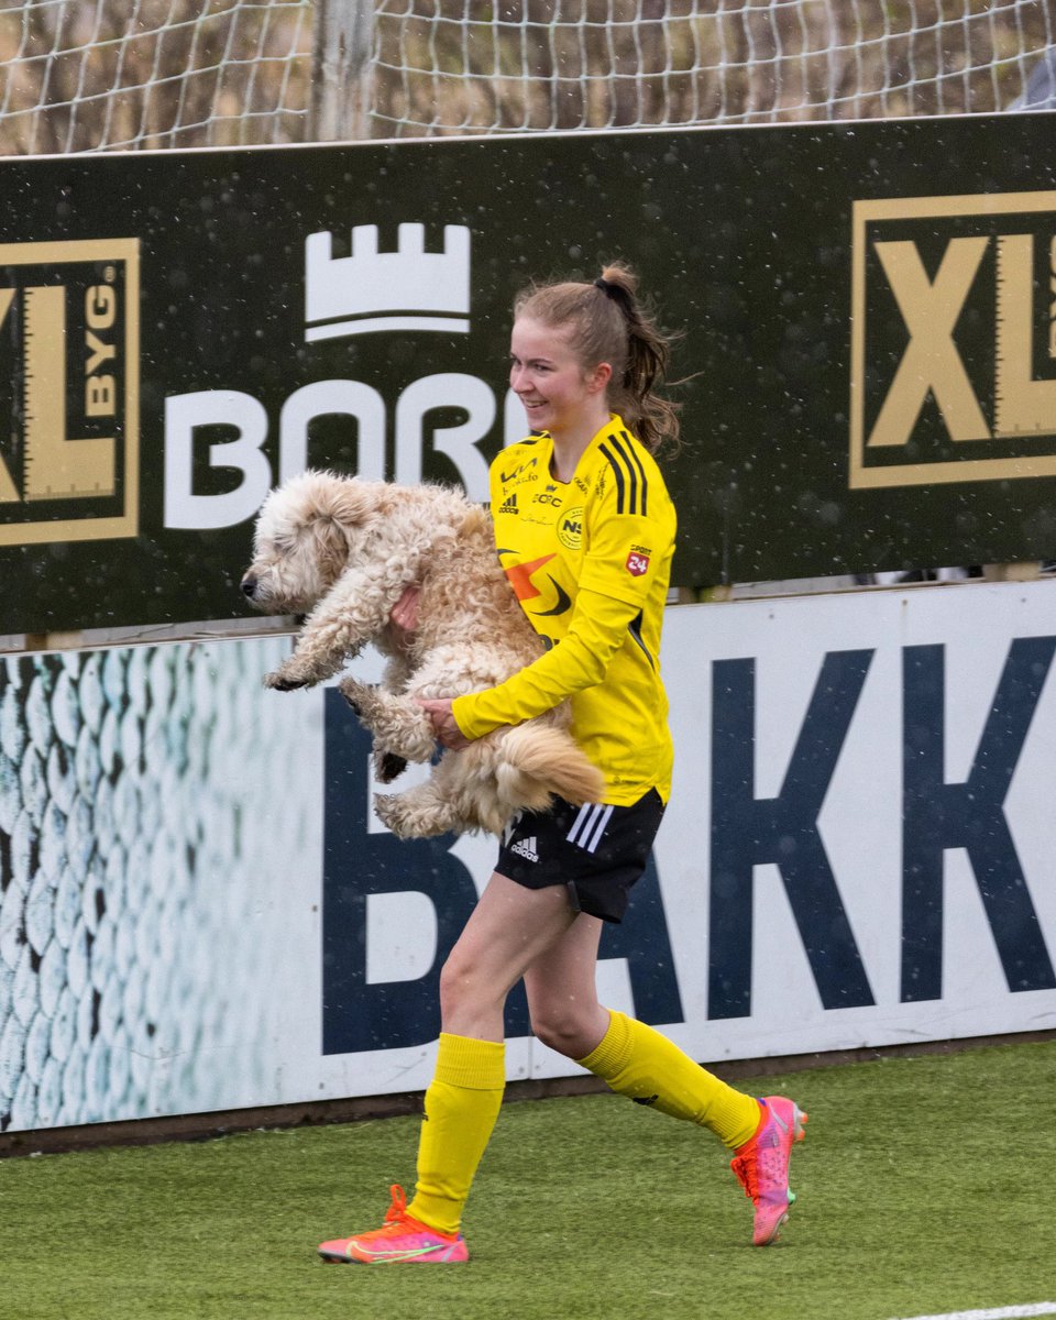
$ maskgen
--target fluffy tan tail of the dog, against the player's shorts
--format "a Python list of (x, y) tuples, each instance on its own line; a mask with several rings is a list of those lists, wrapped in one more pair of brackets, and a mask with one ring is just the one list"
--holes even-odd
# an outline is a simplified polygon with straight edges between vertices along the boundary
[(502, 741), (495, 777), (507, 816), (545, 810), (554, 793), (578, 807), (601, 801), (605, 792), (605, 775), (553, 725), (511, 729)]

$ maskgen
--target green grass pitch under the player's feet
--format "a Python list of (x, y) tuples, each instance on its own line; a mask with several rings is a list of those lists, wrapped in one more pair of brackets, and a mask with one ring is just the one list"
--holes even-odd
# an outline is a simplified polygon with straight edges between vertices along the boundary
[(4, 1320), (890, 1320), (1056, 1300), (1056, 1043), (739, 1084), (810, 1113), (781, 1241), (705, 1131), (507, 1105), (473, 1259), (323, 1265), (413, 1184), (416, 1118), (0, 1163)]

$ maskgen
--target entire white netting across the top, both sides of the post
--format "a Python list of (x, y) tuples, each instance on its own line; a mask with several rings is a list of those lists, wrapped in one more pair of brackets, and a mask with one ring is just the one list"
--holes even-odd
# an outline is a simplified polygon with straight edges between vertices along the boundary
[(28, 0), (0, 153), (995, 111), (1053, 41), (1048, 0)]

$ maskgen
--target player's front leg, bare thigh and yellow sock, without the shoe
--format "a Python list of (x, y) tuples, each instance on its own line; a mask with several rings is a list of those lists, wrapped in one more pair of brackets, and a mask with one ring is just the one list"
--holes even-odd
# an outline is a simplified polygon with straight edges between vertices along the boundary
[(408, 1213), (457, 1233), (506, 1088), (506, 997), (576, 913), (564, 886), (528, 890), (492, 875), (440, 977), (440, 1052), (425, 1092), (418, 1177)]

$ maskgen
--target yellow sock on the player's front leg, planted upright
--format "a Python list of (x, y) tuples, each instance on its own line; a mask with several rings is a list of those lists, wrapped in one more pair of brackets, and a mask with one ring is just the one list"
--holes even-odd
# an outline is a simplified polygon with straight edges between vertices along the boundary
[(437, 1071), (425, 1092), (418, 1181), (408, 1214), (441, 1233), (458, 1232), (504, 1089), (504, 1045), (441, 1032)]

